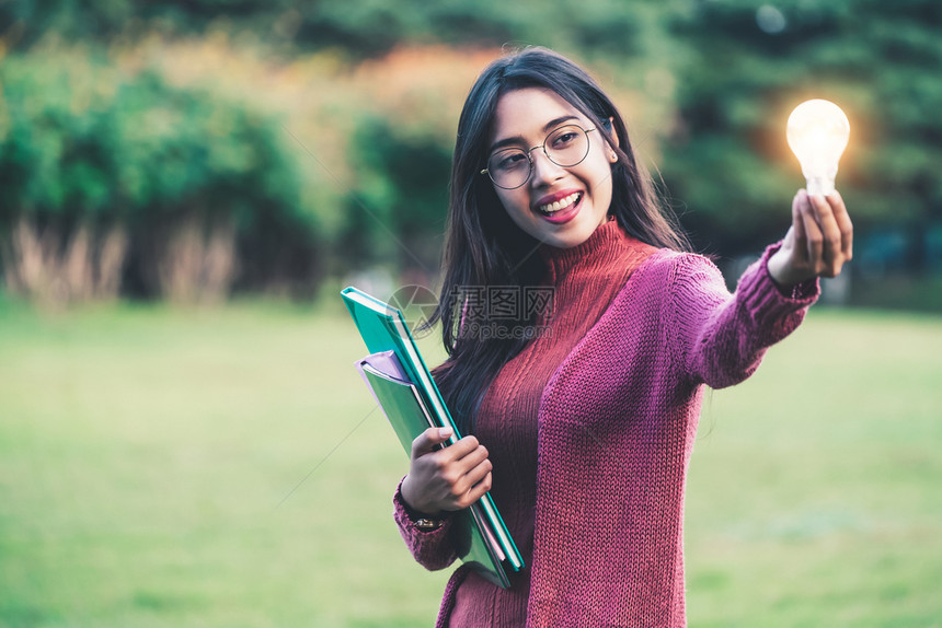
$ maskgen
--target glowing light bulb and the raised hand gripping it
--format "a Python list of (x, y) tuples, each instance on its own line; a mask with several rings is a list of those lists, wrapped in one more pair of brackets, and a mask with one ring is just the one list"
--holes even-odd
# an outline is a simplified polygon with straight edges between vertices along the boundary
[(834, 187), (849, 136), (847, 116), (828, 101), (802, 103), (789, 117), (789, 146), (802, 164), (807, 189), (792, 200), (792, 226), (769, 258), (769, 275), (779, 286), (837, 277), (853, 256), (853, 224)]

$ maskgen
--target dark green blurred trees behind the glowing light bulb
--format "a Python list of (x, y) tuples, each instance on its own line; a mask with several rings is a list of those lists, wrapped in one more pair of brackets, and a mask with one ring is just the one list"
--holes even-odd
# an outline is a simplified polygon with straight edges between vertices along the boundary
[[(838, 188), (858, 226), (942, 218), (942, 4), (932, 0), (699, 1), (676, 20), (696, 53), (664, 176), (700, 244), (749, 249), (782, 235), (803, 186), (784, 140), (791, 109), (839, 103), (851, 143)], [(703, 234), (710, 234), (709, 241)]]

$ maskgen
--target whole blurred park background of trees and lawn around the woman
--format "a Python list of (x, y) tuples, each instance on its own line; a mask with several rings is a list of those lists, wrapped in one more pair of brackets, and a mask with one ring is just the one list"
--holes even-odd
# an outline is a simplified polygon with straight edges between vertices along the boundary
[(940, 32), (935, 0), (0, 0), (0, 626), (430, 625), (337, 290), (437, 284), (461, 104), (526, 45), (590, 69), (731, 286), (804, 185), (789, 113), (847, 113), (854, 260), (704, 409), (691, 626), (942, 625)]

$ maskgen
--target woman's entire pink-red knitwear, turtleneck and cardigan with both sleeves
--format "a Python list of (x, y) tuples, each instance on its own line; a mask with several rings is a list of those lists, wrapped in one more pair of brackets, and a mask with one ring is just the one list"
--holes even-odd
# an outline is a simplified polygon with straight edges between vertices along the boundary
[[(562, 302), (553, 316), (578, 321), (573, 313), (582, 313), (590, 328), (570, 342), (563, 334), (542, 350), (528, 347), (529, 356), (508, 363), (492, 384), (519, 386), (510, 396), (522, 400), (485, 397), (483, 406), (509, 408), (506, 440), (518, 449), (528, 449), (527, 433), (536, 437), (536, 455), (519, 452), (536, 462), (535, 486), (526, 463), (505, 463), (513, 470), (501, 473), (497, 460), (512, 457), (498, 443), (484, 443), (497, 458), (492, 495), (528, 569), (502, 591), (459, 568), (438, 626), (518, 626), (522, 615), (527, 626), (540, 627), (686, 626), (683, 489), (703, 386), (748, 377), (765, 349), (801, 323), (817, 284), (783, 295), (768, 274), (770, 247), (731, 295), (708, 259), (653, 251), (614, 222), (577, 252), (555, 251), (549, 280)], [(528, 428), (519, 409), (529, 407), (532, 380), (521, 374), (529, 362), (542, 387), (535, 362), (541, 358), (551, 376)], [(482, 420), (493, 425), (494, 417)], [(428, 569), (450, 565), (448, 523), (421, 532), (399, 492), (394, 504), (415, 559)]]

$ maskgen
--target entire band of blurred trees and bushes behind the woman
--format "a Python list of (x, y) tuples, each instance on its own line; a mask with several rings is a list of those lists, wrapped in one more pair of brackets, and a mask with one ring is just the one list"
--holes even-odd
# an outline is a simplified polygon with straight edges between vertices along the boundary
[[(0, 3), (0, 222), (61, 212), (157, 233), (148, 221), (196, 212), (197, 231), (234, 233), (245, 289), (310, 292), (374, 264), (435, 275), (464, 94), (501, 47), (532, 44), (613, 94), (711, 253), (783, 234), (803, 184), (784, 119), (806, 97), (838, 102), (858, 233), (893, 225), (909, 242), (893, 263), (928, 270), (940, 13), (928, 0)], [(126, 291), (158, 290), (146, 249), (133, 239)]]

